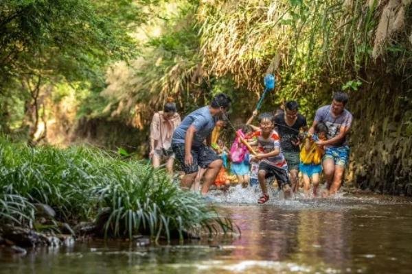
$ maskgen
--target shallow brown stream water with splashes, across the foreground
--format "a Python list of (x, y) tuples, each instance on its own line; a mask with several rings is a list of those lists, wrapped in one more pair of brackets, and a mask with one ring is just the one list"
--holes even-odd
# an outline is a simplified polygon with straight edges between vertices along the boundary
[(258, 190), (214, 192), (240, 237), (185, 245), (77, 242), (25, 256), (0, 253), (0, 273), (411, 273), (412, 201), (341, 194), (263, 206)]

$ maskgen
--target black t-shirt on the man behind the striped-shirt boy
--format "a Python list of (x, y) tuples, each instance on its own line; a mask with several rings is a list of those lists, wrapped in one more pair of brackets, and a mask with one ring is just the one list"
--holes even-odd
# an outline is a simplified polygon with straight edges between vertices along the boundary
[(276, 115), (274, 121), (276, 131), (280, 136), (280, 146), (282, 147), (282, 151), (299, 153), (299, 145), (293, 145), (292, 140), (294, 142), (297, 141), (299, 129), (301, 129), (301, 127), (306, 127), (308, 125), (306, 123), (306, 118), (298, 113), (295, 123), (292, 126), (289, 126), (286, 124), (285, 115), (282, 113)]

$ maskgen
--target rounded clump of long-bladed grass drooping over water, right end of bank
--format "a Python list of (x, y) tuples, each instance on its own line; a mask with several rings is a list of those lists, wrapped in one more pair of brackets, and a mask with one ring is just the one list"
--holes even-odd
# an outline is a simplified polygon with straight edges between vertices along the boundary
[(183, 238), (185, 232), (233, 230), (228, 219), (221, 219), (198, 195), (183, 192), (163, 171), (139, 162), (115, 162), (106, 173), (106, 180), (94, 188), (100, 208), (111, 208), (106, 236), (150, 234), (170, 239)]

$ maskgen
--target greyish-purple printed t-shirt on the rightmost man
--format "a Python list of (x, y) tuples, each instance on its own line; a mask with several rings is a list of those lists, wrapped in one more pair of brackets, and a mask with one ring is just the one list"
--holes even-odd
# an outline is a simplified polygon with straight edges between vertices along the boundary
[[(325, 123), (328, 127), (328, 140), (333, 138), (334, 136), (339, 134), (341, 127), (350, 127), (352, 125), (353, 116), (352, 114), (344, 109), (343, 112), (339, 115), (334, 117), (332, 114), (332, 106), (331, 105), (324, 105), (323, 107), (319, 108), (314, 116), (314, 121), (317, 123)], [(342, 147), (347, 146), (347, 136), (338, 144), (328, 145), (328, 147)]]

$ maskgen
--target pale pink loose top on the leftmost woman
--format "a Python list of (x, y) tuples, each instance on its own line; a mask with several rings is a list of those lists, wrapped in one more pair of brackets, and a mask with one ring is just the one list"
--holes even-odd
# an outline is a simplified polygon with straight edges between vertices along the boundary
[(150, 124), (150, 138), (154, 139), (155, 149), (168, 149), (172, 142), (174, 129), (181, 123), (179, 114), (175, 113), (170, 119), (165, 119), (163, 112), (156, 112)]

